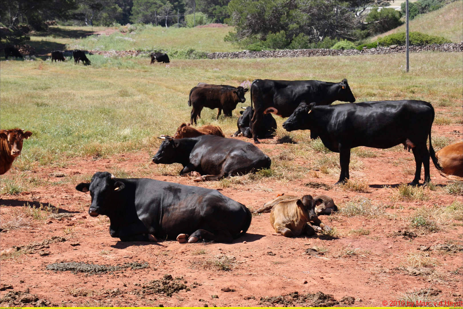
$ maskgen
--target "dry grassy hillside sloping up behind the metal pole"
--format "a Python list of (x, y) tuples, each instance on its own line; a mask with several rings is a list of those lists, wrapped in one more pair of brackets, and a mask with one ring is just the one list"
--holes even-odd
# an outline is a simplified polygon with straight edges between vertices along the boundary
[[(409, 31), (418, 31), (429, 35), (448, 38), (452, 42), (463, 41), (463, 1), (455, 1), (443, 8), (421, 14), (410, 20)], [(405, 24), (388, 32), (371, 38), (374, 42), (378, 37), (391, 33), (405, 32)]]

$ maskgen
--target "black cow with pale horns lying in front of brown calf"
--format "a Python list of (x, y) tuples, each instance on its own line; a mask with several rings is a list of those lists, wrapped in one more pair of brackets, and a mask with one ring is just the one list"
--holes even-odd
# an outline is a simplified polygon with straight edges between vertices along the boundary
[[(219, 180), (270, 168), (271, 160), (256, 146), (239, 139), (215, 135), (174, 139), (161, 136), (163, 143), (153, 157), (156, 164), (180, 163), (180, 175), (204, 175), (195, 182)], [(193, 173), (192, 173), (193, 172)]]

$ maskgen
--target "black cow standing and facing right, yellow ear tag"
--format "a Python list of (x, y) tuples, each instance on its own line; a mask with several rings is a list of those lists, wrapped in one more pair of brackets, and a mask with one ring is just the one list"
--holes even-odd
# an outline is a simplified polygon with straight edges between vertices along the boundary
[[(251, 107), (254, 102), (251, 131), (256, 131), (254, 128), (259, 126), (264, 114), (286, 118), (293, 114), (300, 102), (330, 105), (334, 101), (355, 102), (346, 79), (342, 82), (256, 79), (251, 84)], [(257, 135), (253, 134), (252, 138), (254, 143), (259, 143)], [(311, 138), (317, 137), (311, 134)]]

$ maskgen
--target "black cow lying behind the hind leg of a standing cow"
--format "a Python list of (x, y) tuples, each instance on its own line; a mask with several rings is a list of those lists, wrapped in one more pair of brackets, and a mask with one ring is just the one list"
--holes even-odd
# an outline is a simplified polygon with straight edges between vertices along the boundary
[[(239, 113), (241, 114), (241, 116), (239, 116), (238, 121), (236, 123), (238, 126), (238, 131), (235, 132), (235, 134), (233, 134), (232, 136), (238, 136), (241, 133), (244, 137), (251, 139), (252, 131), (250, 125), (254, 111), (252, 110), (252, 107), (248, 106), (244, 111), (240, 111)], [(265, 114), (262, 118), (262, 121), (259, 123), (259, 126), (257, 127), (257, 138), (264, 139), (273, 136), (275, 134), (275, 131), (275, 119), (273, 118), (272, 114)]]

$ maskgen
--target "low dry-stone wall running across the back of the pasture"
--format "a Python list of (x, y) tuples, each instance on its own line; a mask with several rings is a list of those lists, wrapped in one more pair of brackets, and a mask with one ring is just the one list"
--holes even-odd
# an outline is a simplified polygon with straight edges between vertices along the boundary
[[(425, 46), (410, 46), (410, 52), (421, 51), (463, 51), (463, 42), (432, 44)], [(72, 50), (69, 50), (72, 52)], [(146, 56), (150, 51), (141, 50), (88, 50), (93, 55), (106, 57)], [(364, 48), (363, 50), (331, 50), (331, 49), (307, 49), (307, 50), (263, 50), (263, 51), (233, 51), (207, 53), (208, 59), (224, 58), (281, 58), (281, 57), (313, 57), (313, 56), (351, 56), (351, 55), (382, 55), (392, 53), (404, 53), (405, 46), (391, 45), (389, 47)]]

